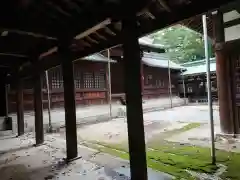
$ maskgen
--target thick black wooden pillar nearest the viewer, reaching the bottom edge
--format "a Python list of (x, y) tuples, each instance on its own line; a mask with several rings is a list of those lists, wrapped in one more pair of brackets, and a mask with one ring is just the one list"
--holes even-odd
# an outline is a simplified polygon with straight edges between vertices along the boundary
[(141, 58), (136, 16), (127, 14), (122, 21), (122, 28), (131, 179), (146, 180), (147, 163), (142, 109)]

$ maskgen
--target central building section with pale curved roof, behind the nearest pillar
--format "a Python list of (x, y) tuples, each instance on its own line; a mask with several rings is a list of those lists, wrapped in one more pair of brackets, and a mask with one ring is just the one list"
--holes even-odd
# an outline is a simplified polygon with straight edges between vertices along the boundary
[[(142, 44), (141, 44), (142, 45)], [(168, 61), (171, 72), (171, 87), (173, 95), (178, 95), (178, 78), (181, 73), (180, 65), (172, 62), (164, 49), (148, 46), (142, 53), (142, 93), (143, 98), (156, 98), (169, 96)], [(118, 99), (124, 96), (124, 62), (121, 47), (111, 50), (111, 57), (117, 63), (111, 65), (112, 96)]]

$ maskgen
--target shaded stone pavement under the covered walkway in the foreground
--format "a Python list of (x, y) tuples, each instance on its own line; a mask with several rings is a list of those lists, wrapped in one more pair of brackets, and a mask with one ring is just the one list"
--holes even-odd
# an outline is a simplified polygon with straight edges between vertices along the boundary
[[(1, 180), (129, 180), (129, 162), (78, 146), (79, 159), (65, 163), (65, 140), (45, 135), (45, 143), (34, 147), (31, 133), (20, 138), (0, 137)], [(172, 176), (148, 169), (149, 180), (171, 180)]]

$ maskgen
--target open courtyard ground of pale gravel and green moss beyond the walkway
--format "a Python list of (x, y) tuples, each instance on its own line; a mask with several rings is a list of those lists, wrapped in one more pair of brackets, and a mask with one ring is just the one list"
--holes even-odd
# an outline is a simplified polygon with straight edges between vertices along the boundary
[[(240, 141), (219, 135), (218, 107), (213, 109), (217, 165), (211, 163), (208, 106), (188, 105), (144, 114), (148, 167), (179, 180), (238, 180)], [(126, 119), (81, 126), (77, 133), (81, 145), (129, 159)]]

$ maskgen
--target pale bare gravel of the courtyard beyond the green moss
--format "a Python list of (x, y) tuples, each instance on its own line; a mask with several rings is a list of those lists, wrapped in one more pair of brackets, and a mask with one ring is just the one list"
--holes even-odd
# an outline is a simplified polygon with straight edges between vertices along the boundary
[[(219, 133), (218, 110), (214, 108), (214, 120), (216, 133)], [(144, 114), (145, 138), (148, 142), (162, 133), (183, 129), (188, 124), (205, 126), (208, 131), (208, 107), (207, 106), (181, 106), (173, 109), (149, 112)], [(194, 134), (194, 133), (193, 133)], [(205, 133), (207, 136), (209, 133)], [(172, 134), (174, 135), (174, 134)], [(81, 140), (101, 141), (106, 143), (121, 143), (127, 141), (127, 122), (124, 118), (113, 119), (78, 128), (78, 136)]]

